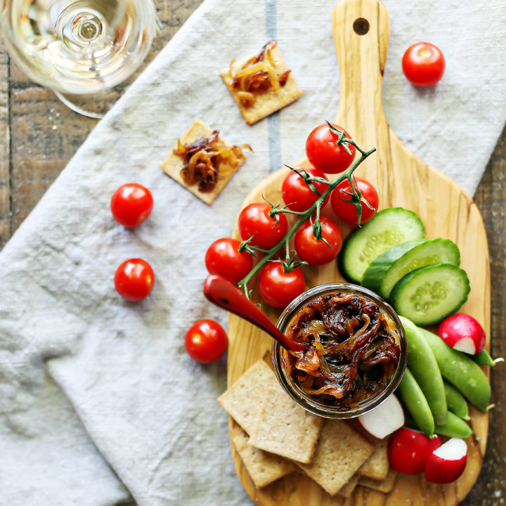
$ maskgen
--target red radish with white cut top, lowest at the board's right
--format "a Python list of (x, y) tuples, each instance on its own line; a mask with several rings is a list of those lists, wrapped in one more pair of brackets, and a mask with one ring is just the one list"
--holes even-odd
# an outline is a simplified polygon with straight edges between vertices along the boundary
[(446, 484), (458, 479), (467, 462), (467, 444), (463, 439), (452, 438), (434, 450), (425, 467), (425, 479)]

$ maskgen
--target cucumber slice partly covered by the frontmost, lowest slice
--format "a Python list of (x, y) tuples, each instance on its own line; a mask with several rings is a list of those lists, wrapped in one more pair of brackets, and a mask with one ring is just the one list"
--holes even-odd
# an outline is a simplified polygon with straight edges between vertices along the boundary
[(455, 242), (448, 239), (427, 239), (406, 251), (384, 273), (380, 282), (380, 295), (388, 299), (392, 288), (403, 276), (417, 268), (434, 264), (460, 265), (460, 251)]

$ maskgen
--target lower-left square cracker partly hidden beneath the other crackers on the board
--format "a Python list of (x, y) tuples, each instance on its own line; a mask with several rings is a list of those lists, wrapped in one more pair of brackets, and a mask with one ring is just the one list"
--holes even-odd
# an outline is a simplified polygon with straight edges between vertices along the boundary
[(231, 430), (231, 439), (257, 488), (271, 484), (295, 469), (290, 460), (251, 446), (247, 434), (238, 426)]

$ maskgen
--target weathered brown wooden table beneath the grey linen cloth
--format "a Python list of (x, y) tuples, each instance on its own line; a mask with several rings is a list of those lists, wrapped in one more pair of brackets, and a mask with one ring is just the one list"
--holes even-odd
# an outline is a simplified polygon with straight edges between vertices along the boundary
[[(200, 2), (155, 0), (163, 30), (146, 63)], [(0, 248), (95, 124), (96, 120), (76, 115), (51, 91), (30, 82), (9, 61), (0, 43)], [(492, 353), (506, 356), (506, 128), (474, 200), (484, 218), (491, 256)], [(493, 370), (492, 391), (495, 408), (491, 411), (486, 459), (478, 482), (462, 505), (495, 506), (506, 500), (506, 363)]]

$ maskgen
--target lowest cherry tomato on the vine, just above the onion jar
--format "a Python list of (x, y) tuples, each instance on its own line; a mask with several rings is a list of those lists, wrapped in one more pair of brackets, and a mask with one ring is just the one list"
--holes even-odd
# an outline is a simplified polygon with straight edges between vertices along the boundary
[(299, 268), (285, 273), (280, 262), (269, 262), (259, 275), (261, 298), (267, 304), (277, 308), (285, 308), (290, 302), (304, 292), (304, 275)]

